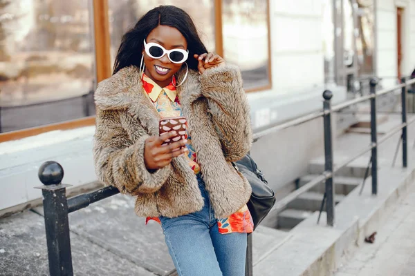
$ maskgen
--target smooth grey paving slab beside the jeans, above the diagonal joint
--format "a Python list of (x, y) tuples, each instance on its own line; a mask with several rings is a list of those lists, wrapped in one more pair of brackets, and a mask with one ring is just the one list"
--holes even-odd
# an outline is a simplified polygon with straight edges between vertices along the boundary
[(134, 213), (134, 204), (133, 197), (118, 194), (77, 210), (69, 214), (71, 232), (163, 275), (174, 269), (163, 230), (156, 221), (146, 225), (145, 218)]

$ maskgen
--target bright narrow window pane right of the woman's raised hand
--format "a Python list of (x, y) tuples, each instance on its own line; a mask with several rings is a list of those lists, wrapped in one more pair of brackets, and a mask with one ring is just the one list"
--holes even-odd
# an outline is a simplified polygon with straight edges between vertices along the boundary
[(267, 0), (222, 0), (223, 56), (246, 89), (270, 86), (268, 20)]

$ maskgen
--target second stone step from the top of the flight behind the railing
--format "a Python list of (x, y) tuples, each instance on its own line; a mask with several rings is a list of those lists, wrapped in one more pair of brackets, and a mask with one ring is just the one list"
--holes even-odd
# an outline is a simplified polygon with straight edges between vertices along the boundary
[[(306, 185), (309, 181), (312, 181), (318, 177), (318, 175), (305, 175), (304, 177), (300, 177), (299, 179), (299, 187)], [(335, 175), (334, 178), (334, 188), (335, 193), (338, 195), (348, 195), (351, 190), (356, 188), (356, 186), (362, 184), (363, 179), (359, 177), (340, 177)], [(325, 183), (324, 181), (315, 185), (311, 188), (310, 192), (317, 192), (317, 193), (324, 193), (325, 190)]]

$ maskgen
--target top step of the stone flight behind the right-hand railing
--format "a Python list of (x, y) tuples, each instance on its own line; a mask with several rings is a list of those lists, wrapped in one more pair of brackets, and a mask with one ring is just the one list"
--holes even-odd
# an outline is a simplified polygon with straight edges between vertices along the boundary
[[(348, 159), (349, 157), (336, 156), (333, 162), (333, 165), (336, 166), (338, 164), (343, 164), (343, 161), (347, 161)], [(365, 172), (366, 172), (368, 162), (369, 162), (368, 158), (359, 157), (355, 161), (352, 161), (349, 165), (338, 170), (338, 172), (336, 172), (335, 175), (342, 176), (342, 177), (363, 178), (365, 177)], [(310, 172), (311, 175), (319, 175), (322, 172), (324, 172), (324, 157), (311, 160), (310, 164), (308, 165), (308, 171)], [(371, 170), (369, 170), (369, 175), (370, 174), (371, 174)]]

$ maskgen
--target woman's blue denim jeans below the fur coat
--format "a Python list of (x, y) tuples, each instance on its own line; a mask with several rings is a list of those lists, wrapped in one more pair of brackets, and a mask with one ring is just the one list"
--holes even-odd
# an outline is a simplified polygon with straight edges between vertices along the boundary
[(181, 217), (160, 217), (178, 275), (244, 276), (246, 233), (220, 234), (208, 192), (198, 177), (205, 206)]

